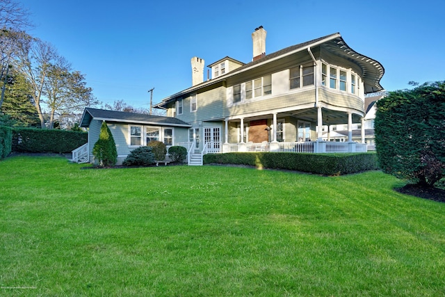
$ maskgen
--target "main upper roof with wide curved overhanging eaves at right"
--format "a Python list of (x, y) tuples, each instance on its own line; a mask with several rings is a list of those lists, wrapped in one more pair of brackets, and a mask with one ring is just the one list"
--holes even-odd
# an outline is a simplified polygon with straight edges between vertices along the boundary
[[(298, 45), (292, 45), (291, 47), (286, 47), (281, 49), (280, 51), (275, 51), (272, 54), (268, 54), (263, 58), (260, 58), (256, 61), (252, 61), (247, 63), (241, 67), (236, 68), (226, 74), (221, 75), (220, 77), (216, 77), (215, 79), (211, 79), (209, 81), (204, 81), (196, 86), (192, 86), (191, 88), (187, 88), (186, 90), (182, 90), (179, 93), (174, 95), (170, 95), (169, 97), (165, 97), (161, 102), (155, 104), (154, 107), (159, 107), (167, 104), (170, 100), (175, 99), (177, 97), (182, 97), (187, 95), (188, 93), (193, 93), (194, 91), (206, 87), (211, 86), (215, 83), (219, 83), (220, 81), (225, 81), (228, 77), (232, 75), (238, 74), (240, 72), (244, 72), (250, 70), (254, 67), (258, 67), (260, 65), (264, 65), (266, 63), (273, 62), (279, 58), (283, 58), (285, 56), (289, 56), (291, 54), (298, 53), (300, 51), (307, 50), (311, 47), (317, 47), (323, 45), (325, 49), (328, 51), (332, 51), (334, 54), (338, 56), (342, 56), (349, 61), (359, 65), (362, 68), (362, 78), (364, 79), (364, 91), (365, 93), (375, 93), (380, 90), (383, 90), (382, 86), (380, 86), (380, 79), (382, 79), (383, 74), (385, 73), (385, 69), (378, 62), (367, 56), (357, 53), (353, 49), (351, 49), (346, 42), (341, 38), (340, 33), (333, 33), (330, 35), (323, 36), (321, 38), (316, 38), (314, 40), (309, 40), (307, 42), (302, 42)], [(223, 60), (223, 59), (222, 59)], [(221, 61), (221, 60), (219, 60)], [(214, 65), (215, 63), (211, 64)]]

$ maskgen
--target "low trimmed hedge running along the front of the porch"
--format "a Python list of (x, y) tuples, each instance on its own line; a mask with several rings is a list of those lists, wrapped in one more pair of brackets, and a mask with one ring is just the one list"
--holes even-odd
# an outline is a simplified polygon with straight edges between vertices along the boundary
[(230, 152), (205, 154), (203, 162), (287, 169), (320, 175), (346, 175), (378, 169), (377, 154), (300, 154), (292, 152)]

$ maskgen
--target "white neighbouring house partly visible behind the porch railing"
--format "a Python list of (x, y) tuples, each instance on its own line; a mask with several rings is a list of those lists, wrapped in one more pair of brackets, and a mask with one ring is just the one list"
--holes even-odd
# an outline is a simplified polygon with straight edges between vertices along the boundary
[[(361, 123), (353, 124), (352, 139), (357, 143), (366, 143), (368, 150), (375, 150), (374, 120), (377, 107), (375, 103), (385, 97), (385, 93), (373, 93), (364, 99), (365, 116)], [(364, 133), (362, 133), (364, 129)], [(362, 138), (364, 136), (364, 138)], [(348, 125), (323, 126), (323, 141), (348, 141)]]

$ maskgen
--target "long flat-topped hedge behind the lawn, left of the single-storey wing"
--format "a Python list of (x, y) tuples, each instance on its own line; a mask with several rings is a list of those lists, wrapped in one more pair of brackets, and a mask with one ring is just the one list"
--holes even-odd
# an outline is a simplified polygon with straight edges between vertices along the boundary
[(86, 132), (13, 128), (13, 152), (71, 152), (88, 142)]

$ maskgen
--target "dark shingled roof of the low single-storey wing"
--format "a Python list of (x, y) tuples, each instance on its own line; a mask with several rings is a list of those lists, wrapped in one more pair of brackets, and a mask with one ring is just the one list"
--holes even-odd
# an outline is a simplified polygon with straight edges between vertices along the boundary
[(145, 115), (143, 113), (127, 113), (124, 111), (107, 111), (105, 109), (92, 109), (87, 107), (83, 111), (80, 127), (88, 127), (92, 120), (169, 127), (191, 127), (191, 125), (188, 125), (186, 122), (178, 120), (177, 118), (164, 117), (160, 115)]

